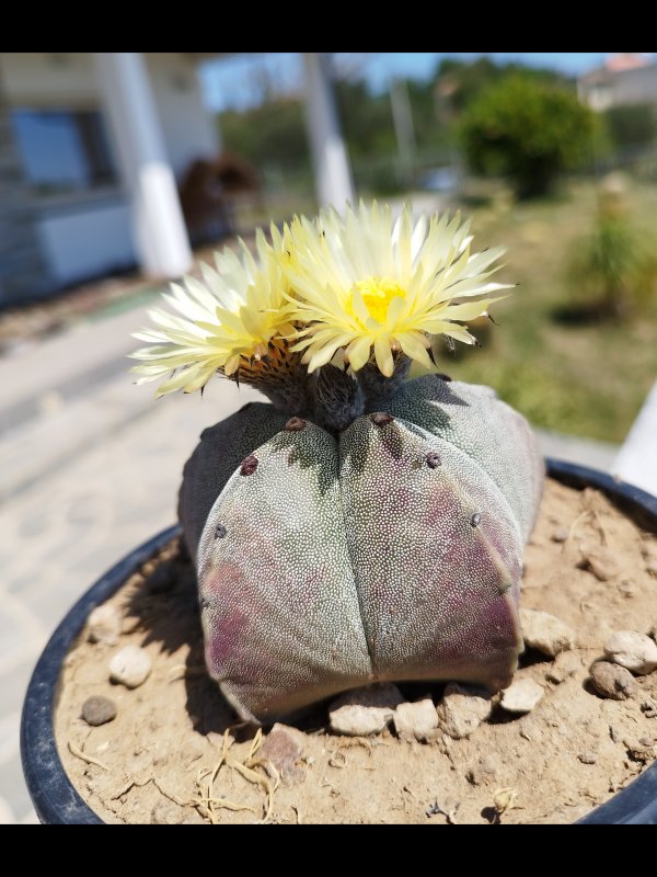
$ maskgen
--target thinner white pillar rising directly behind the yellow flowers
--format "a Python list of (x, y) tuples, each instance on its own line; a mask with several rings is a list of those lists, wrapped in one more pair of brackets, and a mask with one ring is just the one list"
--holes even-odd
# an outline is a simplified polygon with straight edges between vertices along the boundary
[(321, 207), (343, 210), (354, 202), (347, 149), (339, 129), (335, 96), (321, 52), (304, 52), (306, 119), (315, 169), (315, 190)]

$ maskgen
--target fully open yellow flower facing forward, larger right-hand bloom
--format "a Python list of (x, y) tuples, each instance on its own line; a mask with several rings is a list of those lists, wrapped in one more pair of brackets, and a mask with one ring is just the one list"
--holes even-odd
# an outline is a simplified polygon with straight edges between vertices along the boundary
[[(425, 366), (435, 335), (468, 344), (461, 326), (486, 314), (508, 284), (491, 283), (503, 248), (471, 253), (470, 224), (434, 215), (414, 224), (406, 207), (393, 224), (390, 207), (362, 202), (343, 218), (331, 210), (316, 224), (296, 218), (287, 230), (291, 255), (284, 270), (293, 288), (290, 318), (314, 372), (344, 350), (357, 372), (372, 355), (387, 376), (393, 353), (402, 351)], [(287, 248), (290, 250), (290, 248)]]

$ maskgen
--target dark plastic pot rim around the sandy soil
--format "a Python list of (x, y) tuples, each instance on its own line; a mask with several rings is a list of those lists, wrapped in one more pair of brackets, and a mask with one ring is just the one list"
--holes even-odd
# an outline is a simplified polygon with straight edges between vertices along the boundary
[[(629, 510), (642, 511), (648, 525), (657, 528), (656, 497), (615, 481), (597, 469), (554, 459), (546, 463), (548, 472), (553, 478), (576, 488), (598, 488)], [(23, 706), (21, 755), (27, 788), (42, 822), (88, 825), (103, 822), (82, 800), (57, 753), (54, 711), (61, 664), (91, 610), (112, 596), (129, 576), (177, 533), (178, 527), (173, 526), (153, 536), (99, 579), (64, 618), (38, 660)], [(657, 762), (577, 824), (657, 824)]]

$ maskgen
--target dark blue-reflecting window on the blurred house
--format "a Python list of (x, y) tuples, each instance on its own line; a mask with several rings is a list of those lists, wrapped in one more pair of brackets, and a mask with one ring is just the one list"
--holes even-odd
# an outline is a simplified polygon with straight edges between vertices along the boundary
[(89, 191), (116, 183), (100, 111), (19, 107), (11, 118), (25, 173), (39, 194)]

